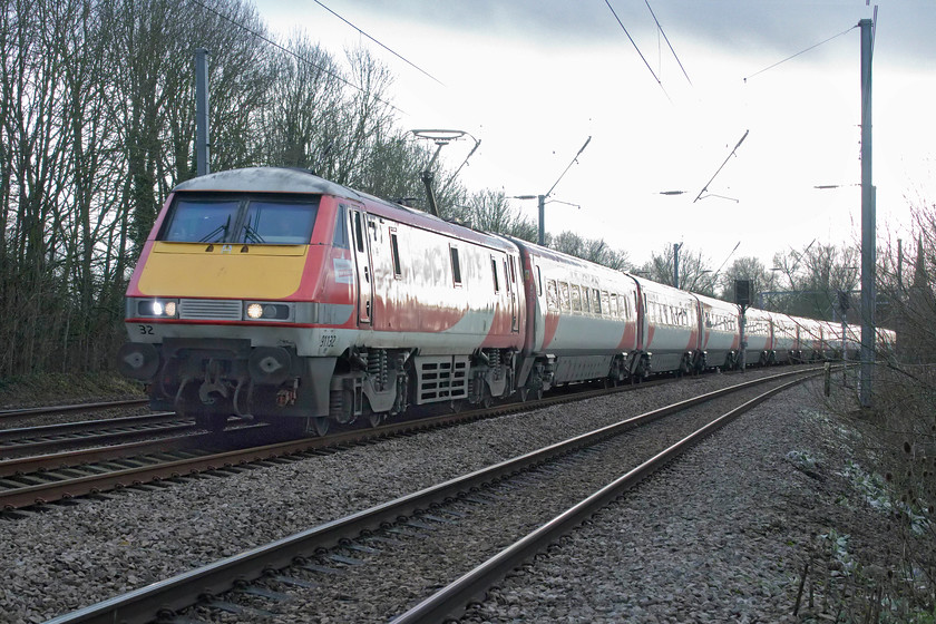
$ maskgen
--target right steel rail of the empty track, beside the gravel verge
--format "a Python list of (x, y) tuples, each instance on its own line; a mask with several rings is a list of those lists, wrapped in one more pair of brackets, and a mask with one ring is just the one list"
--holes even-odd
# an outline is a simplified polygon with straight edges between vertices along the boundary
[[(813, 376), (819, 373), (813, 373)], [(811, 377), (813, 377), (811, 376)], [(589, 518), (597, 510), (608, 506), (625, 491), (633, 488), (652, 472), (667, 465), (685, 450), (711, 436), (740, 415), (757, 407), (770, 397), (801, 383), (805, 379), (797, 379), (773, 388), (750, 401), (722, 415), (704, 427), (690, 433), (682, 440), (647, 459), (636, 468), (579, 501), (566, 511), (559, 514), (536, 530), (508, 546), (484, 564), (465, 574), (457, 581), (442, 587), (411, 610), (394, 617), (390, 624), (428, 624), (442, 622), (448, 617), (456, 617), (464, 612), (465, 606), (472, 601), (482, 599), (488, 588), (504, 578), (510, 571), (525, 560), (544, 550), (549, 544)]]

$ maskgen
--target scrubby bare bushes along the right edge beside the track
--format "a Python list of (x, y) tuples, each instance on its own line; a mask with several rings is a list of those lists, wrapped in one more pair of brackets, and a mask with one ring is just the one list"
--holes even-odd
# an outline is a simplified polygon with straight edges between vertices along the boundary
[(907, 248), (888, 241), (879, 254), (878, 318), (898, 343), (878, 354), (871, 407), (857, 407), (854, 378), (849, 400), (830, 406), (862, 456), (841, 475), (881, 526), (865, 550), (833, 529), (815, 540), (810, 583), (839, 622), (936, 622), (936, 205), (915, 206), (914, 234)]

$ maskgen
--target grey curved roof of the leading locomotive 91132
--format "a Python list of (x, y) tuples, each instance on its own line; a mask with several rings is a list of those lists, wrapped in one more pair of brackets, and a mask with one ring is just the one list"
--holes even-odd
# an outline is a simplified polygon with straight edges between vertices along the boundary
[(354, 191), (348, 186), (330, 182), (309, 169), (290, 167), (246, 167), (228, 169), (198, 176), (177, 185), (173, 191), (191, 192), (257, 192), (257, 193), (315, 193), (348, 197), (364, 204), (367, 211), (378, 216), (384, 216), (448, 234), (456, 238), (485, 244), (497, 248), (516, 251), (509, 241), (495, 234), (472, 230), (465, 225), (448, 222), (429, 213), (388, 202), (368, 193)]

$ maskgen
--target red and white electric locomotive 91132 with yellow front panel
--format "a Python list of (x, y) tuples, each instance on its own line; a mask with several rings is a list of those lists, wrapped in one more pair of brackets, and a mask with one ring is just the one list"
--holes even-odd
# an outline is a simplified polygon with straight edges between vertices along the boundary
[(154, 409), (324, 433), (410, 403), (515, 391), (519, 252), (306, 170), (179, 184), (126, 298), (125, 374)]

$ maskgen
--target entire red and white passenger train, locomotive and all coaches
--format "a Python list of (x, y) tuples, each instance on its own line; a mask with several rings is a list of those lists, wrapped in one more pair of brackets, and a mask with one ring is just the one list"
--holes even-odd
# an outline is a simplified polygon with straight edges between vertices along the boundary
[(856, 328), (748, 309), (329, 182), (251, 167), (177, 185), (125, 299), (125, 376), (207, 429), (304, 433), (417, 406), (854, 357)]

